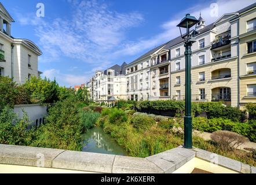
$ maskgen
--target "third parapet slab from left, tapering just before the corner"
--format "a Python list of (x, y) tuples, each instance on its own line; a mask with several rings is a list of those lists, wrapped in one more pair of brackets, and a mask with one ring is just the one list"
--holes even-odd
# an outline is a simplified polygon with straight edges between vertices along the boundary
[(163, 173), (163, 170), (145, 158), (116, 156), (112, 173)]

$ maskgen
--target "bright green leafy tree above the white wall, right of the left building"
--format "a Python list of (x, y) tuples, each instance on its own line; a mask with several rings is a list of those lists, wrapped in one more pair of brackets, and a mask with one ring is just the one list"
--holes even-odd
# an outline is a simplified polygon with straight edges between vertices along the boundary
[(32, 76), (25, 82), (24, 87), (31, 94), (35, 103), (53, 103), (58, 101), (58, 84), (56, 80), (41, 79)]

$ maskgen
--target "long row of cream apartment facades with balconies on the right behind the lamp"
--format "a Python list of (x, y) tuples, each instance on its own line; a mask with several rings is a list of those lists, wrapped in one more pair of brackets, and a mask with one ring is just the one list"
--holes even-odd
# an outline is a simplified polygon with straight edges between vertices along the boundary
[[(256, 3), (207, 26), (201, 14), (199, 20), (192, 46), (192, 101), (242, 108), (256, 102)], [(126, 65), (126, 99), (185, 100), (184, 52), (178, 36)]]

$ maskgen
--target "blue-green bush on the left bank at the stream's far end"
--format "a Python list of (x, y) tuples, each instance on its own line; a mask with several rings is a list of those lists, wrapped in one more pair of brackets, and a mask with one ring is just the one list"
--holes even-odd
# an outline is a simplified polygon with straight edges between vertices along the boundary
[(92, 111), (82, 112), (81, 122), (82, 122), (83, 128), (84, 129), (93, 128), (94, 125), (96, 124), (98, 117), (100, 117), (100, 113), (98, 112), (92, 112)]

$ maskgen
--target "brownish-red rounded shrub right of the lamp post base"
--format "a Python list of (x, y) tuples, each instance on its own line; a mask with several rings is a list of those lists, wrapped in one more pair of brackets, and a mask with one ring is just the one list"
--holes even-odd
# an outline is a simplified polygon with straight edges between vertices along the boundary
[(222, 150), (233, 150), (248, 141), (248, 138), (231, 131), (213, 132), (211, 139), (216, 142)]

